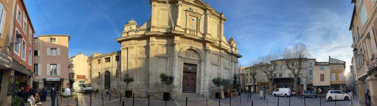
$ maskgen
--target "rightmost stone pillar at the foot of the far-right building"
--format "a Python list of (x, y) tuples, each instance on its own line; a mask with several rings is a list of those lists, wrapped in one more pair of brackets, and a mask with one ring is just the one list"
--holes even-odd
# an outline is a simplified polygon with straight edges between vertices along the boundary
[(377, 77), (371, 75), (366, 78), (371, 94), (371, 106), (377, 106)]

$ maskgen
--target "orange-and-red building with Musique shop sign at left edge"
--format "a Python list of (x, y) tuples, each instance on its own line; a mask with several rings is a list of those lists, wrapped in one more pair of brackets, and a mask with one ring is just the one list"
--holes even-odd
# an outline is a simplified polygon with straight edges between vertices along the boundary
[(0, 0), (0, 101), (6, 106), (20, 87), (32, 87), (33, 36), (25, 2)]

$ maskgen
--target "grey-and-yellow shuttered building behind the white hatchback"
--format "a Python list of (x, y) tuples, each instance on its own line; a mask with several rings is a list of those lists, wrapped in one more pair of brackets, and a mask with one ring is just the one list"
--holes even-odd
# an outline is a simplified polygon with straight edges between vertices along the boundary
[(314, 91), (345, 90), (345, 61), (329, 56), (329, 62), (316, 62), (314, 64), (313, 86)]

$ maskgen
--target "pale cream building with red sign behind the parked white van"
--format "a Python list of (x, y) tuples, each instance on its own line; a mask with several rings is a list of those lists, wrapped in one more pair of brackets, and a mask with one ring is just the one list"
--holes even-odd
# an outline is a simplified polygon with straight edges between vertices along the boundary
[(78, 53), (68, 59), (69, 66), (69, 83), (72, 85), (74, 82), (88, 82), (88, 56)]

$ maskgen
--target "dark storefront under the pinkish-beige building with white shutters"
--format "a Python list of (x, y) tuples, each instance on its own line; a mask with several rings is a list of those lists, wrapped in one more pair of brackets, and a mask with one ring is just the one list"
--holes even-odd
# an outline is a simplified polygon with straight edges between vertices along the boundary
[(63, 85), (64, 78), (43, 78), (42, 81), (47, 93), (50, 93), (52, 87), (56, 88), (56, 93), (60, 93), (62, 89), (60, 85)]

